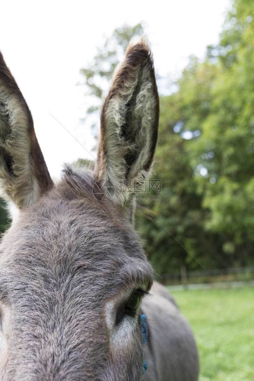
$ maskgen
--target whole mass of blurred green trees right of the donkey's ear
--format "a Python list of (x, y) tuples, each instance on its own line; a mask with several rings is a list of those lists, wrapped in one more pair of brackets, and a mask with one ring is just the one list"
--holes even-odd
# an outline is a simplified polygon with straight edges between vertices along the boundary
[(161, 201), (146, 203), (154, 221), (138, 218), (158, 272), (201, 269), (192, 256), (206, 268), (254, 263), (253, 35), (252, 3), (237, 0), (219, 45), (202, 63), (191, 58), (161, 99)]

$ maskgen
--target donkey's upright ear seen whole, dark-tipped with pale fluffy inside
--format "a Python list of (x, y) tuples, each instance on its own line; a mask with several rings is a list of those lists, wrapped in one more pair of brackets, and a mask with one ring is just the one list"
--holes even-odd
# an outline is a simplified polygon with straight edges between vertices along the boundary
[[(115, 188), (114, 202), (128, 200), (135, 184), (149, 176), (158, 119), (152, 54), (147, 40), (141, 37), (129, 44), (124, 62), (115, 70), (101, 114), (95, 171), (104, 189)], [(125, 181), (127, 186), (123, 186)]]

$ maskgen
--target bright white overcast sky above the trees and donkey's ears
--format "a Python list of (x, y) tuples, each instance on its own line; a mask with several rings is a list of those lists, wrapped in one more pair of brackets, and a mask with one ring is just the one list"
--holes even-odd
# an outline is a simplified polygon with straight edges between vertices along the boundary
[[(0, 50), (34, 118), (53, 178), (62, 163), (90, 158), (94, 146), (84, 88), (76, 86), (96, 46), (113, 30), (144, 21), (155, 69), (176, 78), (190, 54), (203, 58), (219, 41), (230, 0), (8, 0), (1, 2)], [(83, 148), (50, 114), (87, 149)], [(94, 155), (94, 152), (92, 152)]]

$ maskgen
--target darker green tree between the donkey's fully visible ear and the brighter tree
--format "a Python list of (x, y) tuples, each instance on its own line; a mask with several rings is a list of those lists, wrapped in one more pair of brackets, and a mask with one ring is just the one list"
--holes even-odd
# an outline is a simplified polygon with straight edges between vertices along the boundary
[(137, 216), (149, 258), (160, 273), (179, 272), (181, 264), (188, 269), (229, 265), (220, 254), (222, 237), (204, 229), (209, 210), (202, 208), (202, 194), (197, 191), (193, 178), (189, 146), (190, 142), (196, 144), (200, 139), (201, 125), (209, 112), (210, 84), (215, 75), (210, 64), (202, 70), (199, 66), (192, 60), (179, 80), (177, 93), (160, 99), (159, 139), (153, 171), (153, 178), (161, 179), (160, 201), (143, 202), (141, 211), (145, 208), (146, 213)]

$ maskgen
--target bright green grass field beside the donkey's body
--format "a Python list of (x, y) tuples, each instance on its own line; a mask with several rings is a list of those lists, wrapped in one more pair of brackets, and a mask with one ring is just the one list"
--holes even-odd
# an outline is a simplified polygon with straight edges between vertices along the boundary
[(253, 381), (254, 288), (170, 293), (194, 331), (199, 381)]

